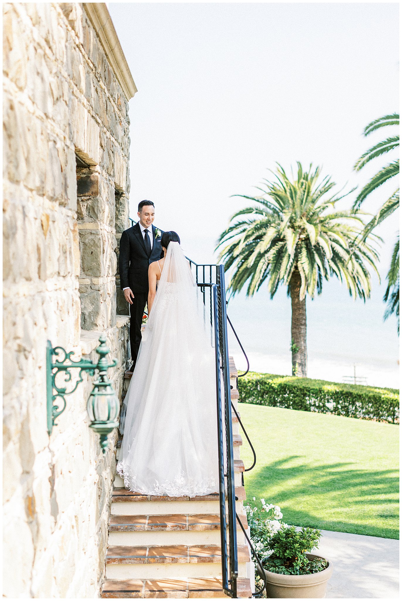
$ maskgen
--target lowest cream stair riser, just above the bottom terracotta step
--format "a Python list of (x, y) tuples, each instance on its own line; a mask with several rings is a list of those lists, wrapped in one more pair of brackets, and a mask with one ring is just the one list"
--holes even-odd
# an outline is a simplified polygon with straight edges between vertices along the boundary
[[(239, 576), (246, 576), (246, 564), (239, 564)], [(114, 580), (160, 578), (222, 578), (221, 563), (106, 564), (106, 578)]]

